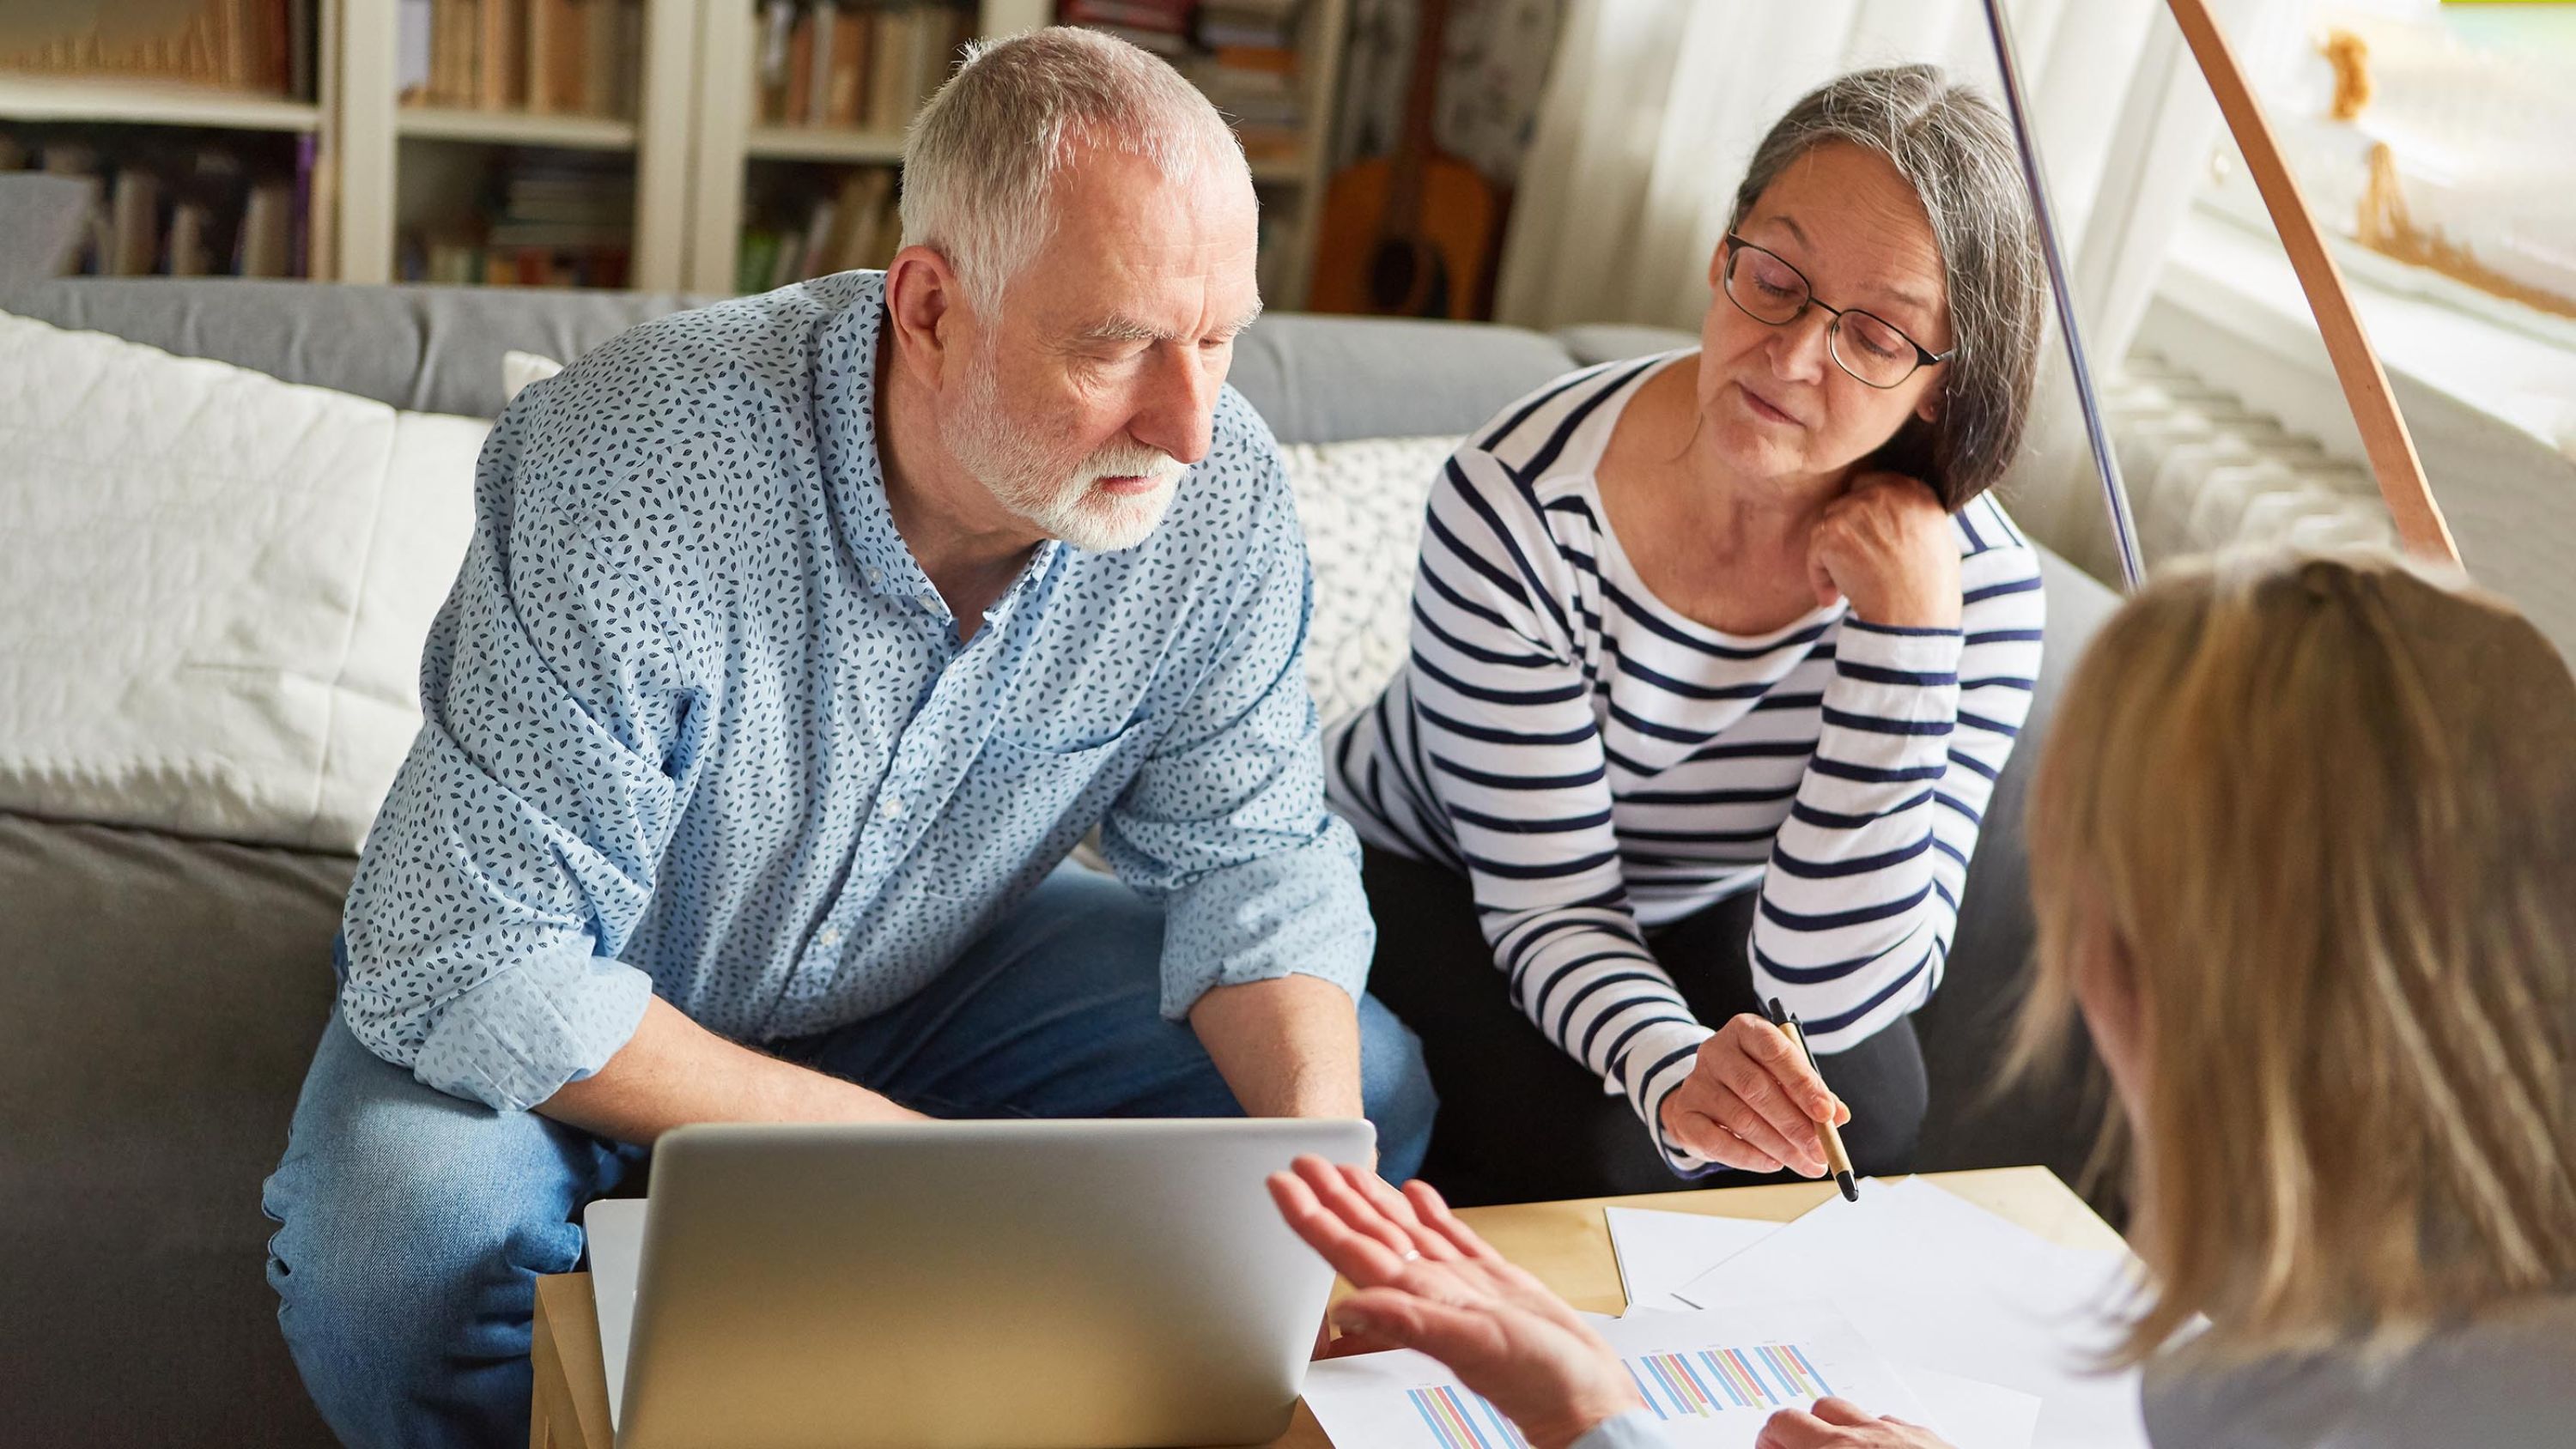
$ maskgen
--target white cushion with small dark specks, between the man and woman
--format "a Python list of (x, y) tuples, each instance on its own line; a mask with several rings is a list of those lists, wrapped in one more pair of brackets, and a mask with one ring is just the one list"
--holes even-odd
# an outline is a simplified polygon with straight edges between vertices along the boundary
[(1327, 723), (1376, 703), (1404, 664), (1422, 510), (1453, 450), (1458, 438), (1280, 448), (1314, 558), (1306, 687)]

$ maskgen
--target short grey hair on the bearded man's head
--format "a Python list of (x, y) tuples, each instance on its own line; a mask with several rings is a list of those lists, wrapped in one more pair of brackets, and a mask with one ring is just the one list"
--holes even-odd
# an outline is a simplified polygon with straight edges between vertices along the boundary
[(1216, 106), (1128, 41), (1048, 26), (971, 44), (904, 136), (904, 245), (948, 257), (969, 304), (994, 314), (1046, 245), (1056, 175), (1082, 144), (1144, 157), (1175, 185), (1208, 157), (1242, 165)]

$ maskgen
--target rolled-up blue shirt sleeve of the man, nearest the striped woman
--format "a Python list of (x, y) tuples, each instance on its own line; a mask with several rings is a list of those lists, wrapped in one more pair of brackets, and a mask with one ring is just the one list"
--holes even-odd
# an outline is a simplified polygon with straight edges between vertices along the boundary
[[(1257, 445), (1270, 453), (1262, 435)], [(1103, 821), (1118, 878), (1164, 906), (1162, 1014), (1216, 986), (1319, 975), (1360, 996), (1376, 927), (1360, 842), (1324, 808), (1324, 749), (1306, 692), (1314, 574), (1270, 453), (1242, 548), (1242, 587), (1182, 718)]]

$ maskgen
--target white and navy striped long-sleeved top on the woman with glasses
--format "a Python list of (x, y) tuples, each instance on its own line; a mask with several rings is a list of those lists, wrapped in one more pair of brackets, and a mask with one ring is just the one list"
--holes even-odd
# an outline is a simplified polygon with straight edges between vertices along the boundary
[[(1620, 553), (1595, 466), (1656, 368), (1558, 378), (1468, 438), (1432, 489), (1412, 656), (1324, 739), (1363, 839), (1461, 870), (1512, 1001), (1659, 1107), (1710, 1024), (1643, 929), (1759, 891), (1757, 993), (1852, 1048), (1940, 983), (1960, 883), (2040, 669), (2038, 556), (1991, 497), (1953, 522), (1960, 628), (1844, 605), (1728, 636)], [(1677, 963), (1690, 970), (1692, 963)]]

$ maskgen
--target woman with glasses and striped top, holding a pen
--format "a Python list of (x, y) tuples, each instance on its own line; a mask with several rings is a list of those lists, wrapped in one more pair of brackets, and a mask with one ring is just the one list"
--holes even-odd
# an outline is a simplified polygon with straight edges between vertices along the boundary
[(1461, 1199), (1819, 1174), (1824, 1114), (1896, 1171), (1922, 1122), (1906, 1017), (2040, 667), (1986, 497), (2045, 301), (2009, 126), (1935, 67), (1824, 85), (1708, 281), (1700, 347), (1450, 458), (1412, 659), (1324, 744)]

